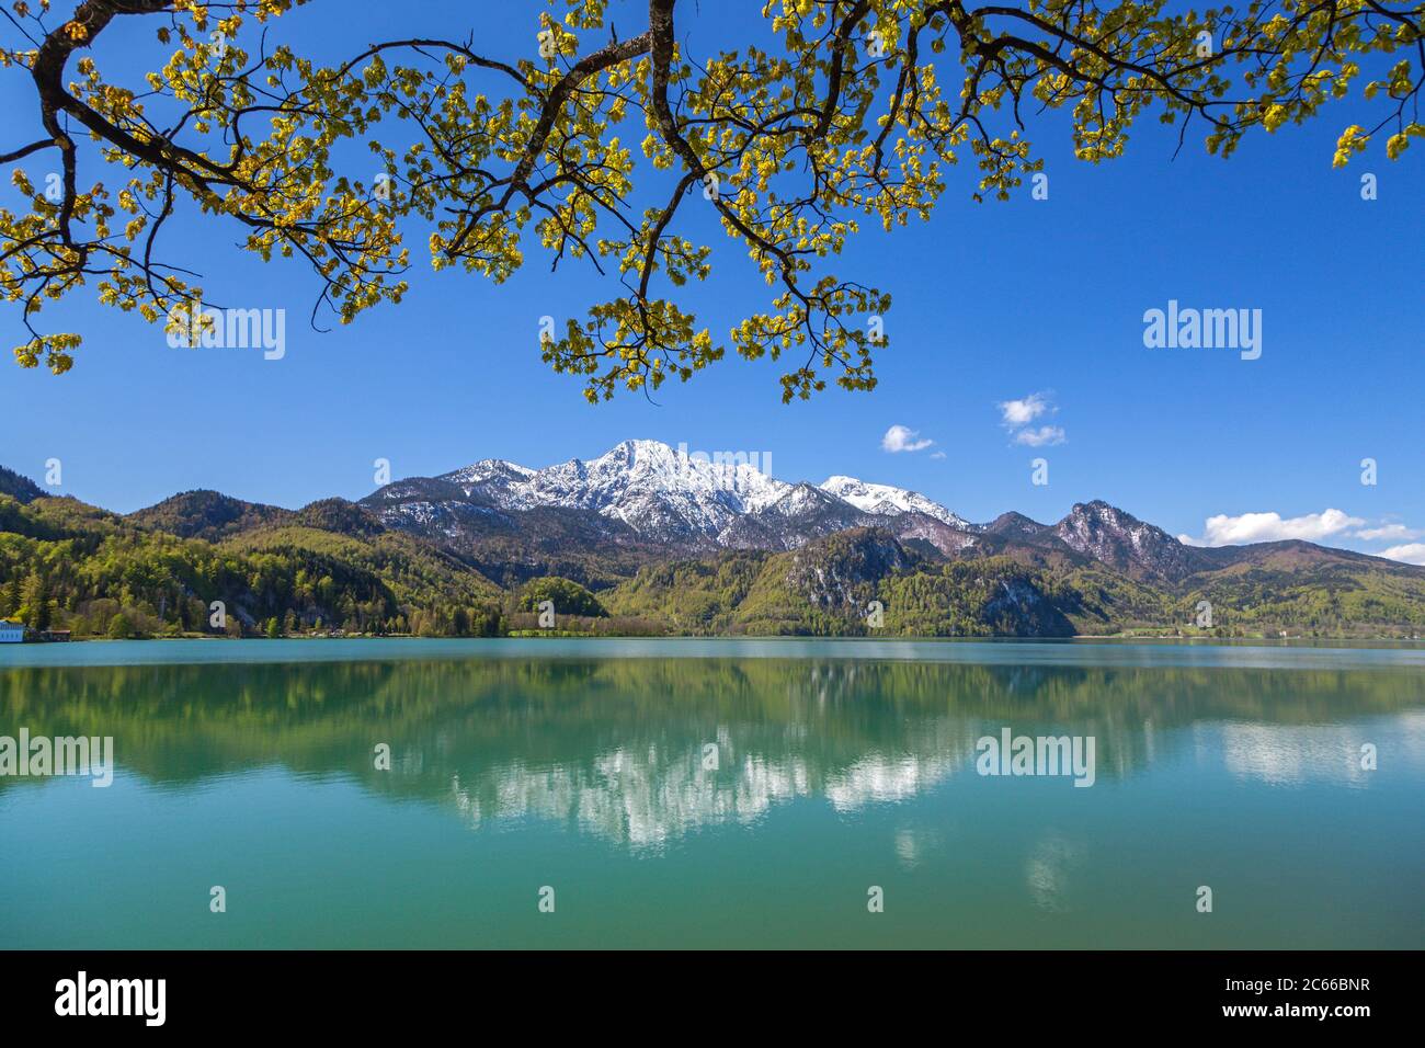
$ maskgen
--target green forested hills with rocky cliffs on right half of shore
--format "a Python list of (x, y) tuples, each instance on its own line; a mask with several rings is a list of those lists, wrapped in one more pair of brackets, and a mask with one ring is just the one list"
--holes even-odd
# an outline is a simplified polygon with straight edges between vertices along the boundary
[[(1425, 630), (1425, 572), (1377, 558), (1342, 555), (1327, 565), (1267, 558), (1164, 586), (1097, 563), (945, 560), (878, 529), (839, 532), (791, 553), (731, 552), (644, 567), (600, 599), (616, 615), (663, 620), (674, 633), (1409, 637)], [(1197, 625), (1204, 600), (1211, 626)]]

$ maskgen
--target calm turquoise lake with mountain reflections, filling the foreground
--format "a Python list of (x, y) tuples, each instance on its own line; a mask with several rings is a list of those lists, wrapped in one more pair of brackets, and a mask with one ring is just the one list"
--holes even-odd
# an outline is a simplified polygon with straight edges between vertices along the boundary
[(1419, 649), (0, 647), (21, 729), (117, 767), (0, 777), (9, 948), (1425, 945)]

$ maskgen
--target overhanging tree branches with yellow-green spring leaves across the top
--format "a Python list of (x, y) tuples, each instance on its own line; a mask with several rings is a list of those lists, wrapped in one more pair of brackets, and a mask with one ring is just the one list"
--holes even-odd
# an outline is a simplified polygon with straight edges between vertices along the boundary
[[(241, 230), (262, 260), (309, 265), (314, 322), (399, 302), (413, 232), (429, 235), (435, 268), (494, 282), (530, 257), (593, 265), (606, 301), (539, 342), (591, 401), (685, 381), (728, 345), (784, 362), (784, 399), (828, 381), (869, 389), (891, 297), (834, 272), (832, 257), (864, 222), (928, 218), (962, 158), (975, 198), (1006, 198), (1042, 170), (1029, 121), (1046, 110), (1072, 115), (1076, 155), (1093, 163), (1120, 155), (1144, 117), (1226, 157), (1257, 128), (1344, 100), (1337, 164), (1381, 147), (1395, 158), (1425, 130), (1425, 4), (1409, 1), (1168, 13), (1163, 0), (770, 0), (767, 33), (705, 57), (680, 47), (700, 11), (687, 0), (620, 4), (636, 36), (620, 36), (607, 0), (549, 0), (497, 7), (529, 19), (523, 54), (487, 54), (453, 27), (335, 64), (281, 43), (272, 23), (301, 3), (3, 11), (0, 64), (28, 78), (34, 133), (0, 160), (53, 165), (43, 184), (16, 168), (27, 208), (0, 208), (23, 366), (73, 365), (81, 332), (38, 314), (86, 285), (170, 331), (184, 309), (221, 308), (164, 235), (185, 210)], [(152, 23), (152, 68), (118, 83), (105, 47), (130, 19)], [(375, 165), (351, 163), (353, 150)], [(693, 207), (715, 210), (771, 288), (727, 338), (678, 304), (711, 268)]]

